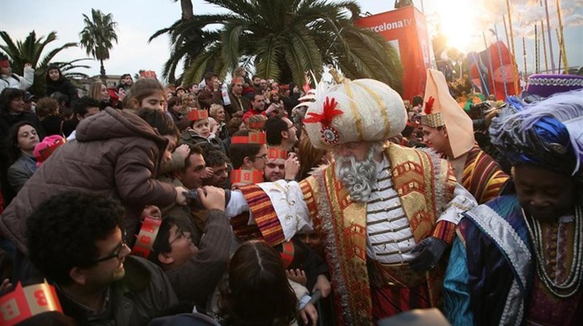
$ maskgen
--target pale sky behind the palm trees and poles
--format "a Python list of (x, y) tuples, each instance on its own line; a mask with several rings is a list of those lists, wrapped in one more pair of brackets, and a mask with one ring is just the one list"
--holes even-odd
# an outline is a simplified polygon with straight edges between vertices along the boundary
[[(512, 0), (513, 2), (529, 2), (534, 0)], [(575, 0), (575, 3), (578, 0)], [(362, 12), (370, 12), (372, 14), (385, 12), (394, 8), (393, 0), (359, 0), (357, 1), (361, 6)], [(415, 6), (422, 9), (422, 0), (413, 1)], [(423, 9), (427, 16), (428, 30), (430, 37), (432, 31), (438, 22), (439, 17), (443, 15), (447, 22), (457, 22), (459, 17), (467, 17), (466, 13), (457, 12), (459, 8), (473, 11), (475, 15), (483, 15), (483, 10), (472, 10), (467, 6), (460, 7), (459, 3), (473, 5), (474, 3), (501, 3), (501, 0), (424, 0)], [(554, 1), (549, 1), (554, 3)], [(563, 0), (567, 6), (571, 6), (572, 1)], [(224, 9), (218, 8), (215, 5), (210, 5), (203, 0), (192, 0), (195, 15), (197, 13), (222, 13)], [(444, 3), (449, 3), (449, 7), (445, 8)], [(164, 62), (168, 58), (170, 52), (170, 45), (166, 35), (156, 38), (152, 43), (147, 43), (147, 39), (157, 30), (170, 26), (177, 19), (180, 18), (180, 1), (173, 2), (171, 0), (51, 0), (51, 1), (33, 1), (33, 0), (19, 0), (9, 1), (0, 0), (0, 30), (8, 32), (12, 40), (24, 40), (30, 31), (35, 30), (37, 36), (47, 35), (50, 31), (57, 32), (57, 40), (52, 42), (44, 53), (52, 50), (59, 45), (66, 42), (78, 42), (79, 31), (83, 29), (83, 16), (90, 16), (91, 8), (100, 9), (105, 13), (112, 13), (114, 20), (118, 23), (118, 44), (114, 44), (113, 50), (110, 51), (110, 59), (104, 62), (106, 71), (111, 75), (121, 75), (122, 73), (131, 73), (132, 75), (140, 69), (156, 71), (157, 75), (161, 75), (161, 69)], [(563, 10), (565, 10), (563, 4)], [(496, 13), (500, 8), (488, 8), (491, 12)], [(466, 11), (466, 12), (468, 12)], [(478, 12), (479, 11), (479, 12)], [(575, 15), (581, 16), (583, 8), (577, 6), (574, 10)], [(552, 13), (551, 13), (552, 14)], [(496, 14), (497, 15), (497, 14)], [(535, 13), (517, 13), (517, 15), (526, 16), (535, 15)], [(556, 16), (552, 15), (552, 17)], [(574, 26), (568, 26), (565, 29), (565, 38), (567, 45), (567, 58), (570, 66), (583, 65), (583, 47), (581, 47), (581, 40), (583, 40), (583, 26), (581, 26), (581, 19), (579, 16), (575, 17)], [(456, 18), (457, 17), (457, 18)], [(467, 19), (467, 18), (466, 18)], [(476, 19), (479, 19), (477, 17)], [(496, 19), (496, 18), (494, 18)], [(501, 24), (501, 19), (498, 19), (498, 33), (504, 35), (504, 27)], [(459, 23), (463, 23), (460, 20)], [(553, 24), (553, 23), (552, 23)], [(451, 26), (451, 24), (450, 24)], [(528, 27), (528, 26), (527, 26)], [(525, 27), (526, 28), (526, 27)], [(483, 28), (482, 28), (483, 29)], [(450, 29), (452, 33), (460, 33), (466, 29), (458, 28), (456, 25)], [(517, 35), (520, 30), (517, 26)], [(526, 33), (526, 32), (525, 32)], [(532, 33), (531, 33), (532, 34)], [(515, 35), (515, 48), (517, 54), (517, 62), (520, 69), (522, 69), (522, 40), (520, 36)], [(458, 34), (458, 40), (462, 43), (472, 43), (472, 45), (465, 44), (468, 48), (466, 50), (483, 50), (483, 41), (480, 33), (473, 34)], [(473, 40), (469, 42), (466, 40)], [(554, 36), (553, 33), (553, 37)], [(503, 38), (503, 40), (505, 40)], [(556, 40), (554, 43), (554, 58), (557, 61), (559, 57)], [(0, 44), (2, 41), (0, 40)], [(480, 48), (482, 47), (482, 48)], [(534, 41), (527, 38), (526, 50), (533, 53)], [(87, 57), (85, 49), (68, 48), (58, 54), (54, 61), (69, 61), (77, 58)], [(533, 55), (527, 54), (527, 69), (532, 71), (534, 68)], [(87, 61), (90, 69), (80, 69), (80, 72), (85, 72), (87, 75), (99, 74), (99, 62), (91, 60)]]

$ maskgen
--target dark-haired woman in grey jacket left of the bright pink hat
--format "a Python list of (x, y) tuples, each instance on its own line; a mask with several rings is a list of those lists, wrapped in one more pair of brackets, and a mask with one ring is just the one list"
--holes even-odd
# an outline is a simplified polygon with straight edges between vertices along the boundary
[(8, 183), (13, 195), (33, 176), (36, 171), (34, 146), (39, 142), (34, 126), (27, 121), (17, 122), (10, 128), (6, 147), (8, 149)]

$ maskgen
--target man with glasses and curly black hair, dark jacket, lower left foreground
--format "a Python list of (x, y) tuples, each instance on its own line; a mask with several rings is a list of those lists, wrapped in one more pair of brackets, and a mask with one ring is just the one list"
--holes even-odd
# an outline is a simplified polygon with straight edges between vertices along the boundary
[(27, 220), (30, 260), (79, 325), (143, 325), (178, 303), (159, 267), (129, 255), (124, 214), (113, 199), (69, 192)]

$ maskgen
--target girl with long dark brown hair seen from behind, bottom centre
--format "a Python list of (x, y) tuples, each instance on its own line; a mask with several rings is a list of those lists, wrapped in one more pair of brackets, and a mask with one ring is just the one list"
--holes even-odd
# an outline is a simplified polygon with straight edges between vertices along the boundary
[[(219, 318), (226, 325), (237, 326), (297, 325), (298, 296), (307, 293), (303, 286), (287, 279), (281, 256), (263, 241), (248, 241), (239, 246), (229, 263), (222, 289)], [(300, 314), (307, 321), (305, 312)], [(310, 317), (315, 325), (317, 316)]]

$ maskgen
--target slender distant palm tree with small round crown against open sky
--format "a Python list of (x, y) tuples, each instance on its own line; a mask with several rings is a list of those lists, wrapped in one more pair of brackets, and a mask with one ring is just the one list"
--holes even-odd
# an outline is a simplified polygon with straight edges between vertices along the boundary
[(113, 15), (108, 13), (105, 15), (99, 9), (91, 9), (91, 18), (83, 14), (83, 22), (85, 27), (79, 33), (80, 46), (84, 47), (87, 55), (91, 54), (93, 58), (99, 60), (101, 63), (101, 76), (106, 75), (106, 68), (103, 66), (103, 61), (109, 59), (109, 50), (113, 48), (112, 41), (117, 44), (117, 23), (113, 20)]

